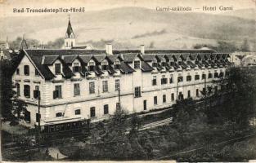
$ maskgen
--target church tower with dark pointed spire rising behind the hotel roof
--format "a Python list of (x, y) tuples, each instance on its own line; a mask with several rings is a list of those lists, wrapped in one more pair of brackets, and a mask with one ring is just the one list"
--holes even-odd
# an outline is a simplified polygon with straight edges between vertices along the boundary
[(70, 15), (69, 15), (69, 24), (67, 31), (65, 33), (65, 49), (71, 49), (72, 47), (75, 46), (75, 36), (74, 36), (74, 31), (72, 29), (71, 23), (70, 23)]

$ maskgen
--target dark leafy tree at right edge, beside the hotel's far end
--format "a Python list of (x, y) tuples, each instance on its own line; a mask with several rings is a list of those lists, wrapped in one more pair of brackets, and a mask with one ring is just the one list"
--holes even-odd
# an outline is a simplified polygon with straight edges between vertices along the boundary
[(254, 112), (256, 90), (255, 68), (230, 68), (229, 75), (219, 82), (225, 85), (222, 116), (236, 125), (248, 126)]

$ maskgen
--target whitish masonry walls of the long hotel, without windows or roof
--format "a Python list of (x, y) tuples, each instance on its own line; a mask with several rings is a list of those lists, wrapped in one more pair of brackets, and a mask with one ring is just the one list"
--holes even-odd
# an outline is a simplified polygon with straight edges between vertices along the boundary
[[(137, 60), (139, 58), (136, 58)], [(58, 59), (56, 63), (60, 62)], [(29, 65), (29, 76), (24, 75), (24, 66)], [(133, 67), (131, 63), (130, 66)], [(20, 99), (24, 99), (27, 103), (27, 109), (30, 112), (30, 126), (34, 126), (36, 123), (36, 113), (38, 112), (38, 101), (33, 99), (33, 90), (35, 86), (39, 86), (41, 91), (41, 124), (47, 125), (51, 121), (70, 120), (72, 119), (87, 119), (90, 118), (90, 108), (96, 108), (95, 121), (108, 117), (104, 115), (103, 106), (109, 105), (109, 114), (113, 114), (116, 109), (116, 103), (119, 101), (118, 91), (115, 90), (115, 79), (120, 80), (120, 94), (122, 108), (126, 108), (128, 112), (147, 112), (152, 109), (164, 108), (171, 106), (175, 103), (177, 96), (177, 76), (180, 74), (183, 76), (183, 81), (178, 83), (178, 92), (182, 92), (184, 98), (187, 97), (188, 90), (191, 91), (191, 97), (196, 97), (196, 89), (203, 90), (204, 80), (202, 80), (202, 73), (208, 75), (208, 73), (220, 73), (225, 72), (225, 68), (210, 68), (210, 69), (191, 69), (174, 71), (173, 73), (145, 73), (141, 72), (141, 69), (136, 69), (136, 72), (129, 74), (121, 74), (119, 77), (106, 76), (95, 78), (79, 77), (79, 80), (72, 81), (70, 79), (62, 79), (62, 76), (56, 78), (62, 79), (59, 82), (45, 81), (43, 77), (35, 75), (35, 67), (25, 55), (21, 60), (20, 74), (13, 74), (12, 81), (20, 84)], [(54, 72), (53, 66), (49, 67)], [(61, 68), (62, 69), (62, 68)], [(190, 73), (192, 81), (186, 81), (186, 75)], [(200, 80), (195, 81), (195, 74), (200, 75)], [(161, 85), (161, 77), (165, 75), (168, 78), (168, 84)], [(157, 85), (152, 86), (153, 76), (157, 77)], [(169, 78), (173, 76), (173, 83), (169, 83)], [(212, 79), (207, 79), (207, 82)], [(95, 81), (95, 94), (89, 94), (89, 82)], [(102, 81), (108, 81), (108, 91), (102, 92)], [(74, 83), (79, 83), (80, 95), (74, 96)], [(30, 86), (30, 98), (24, 96), (24, 85)], [(61, 85), (62, 98), (53, 99), (53, 90), (55, 86)], [(141, 86), (141, 97), (134, 97), (134, 88)], [(171, 95), (174, 94), (175, 100), (171, 99)], [(163, 103), (163, 95), (166, 95), (166, 102)], [(157, 96), (157, 104), (154, 104), (154, 96)], [(146, 100), (146, 111), (144, 110), (144, 100)], [(74, 110), (80, 109), (81, 114), (75, 115)], [(64, 112), (64, 117), (56, 117), (56, 112)]]

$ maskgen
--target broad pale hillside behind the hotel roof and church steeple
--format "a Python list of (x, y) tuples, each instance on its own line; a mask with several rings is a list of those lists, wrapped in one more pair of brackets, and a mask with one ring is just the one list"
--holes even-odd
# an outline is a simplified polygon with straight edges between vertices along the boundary
[[(8, 17), (0, 21), (1, 39), (6, 35), (15, 39), (25, 33), (25, 37), (41, 42), (64, 37), (67, 26), (65, 14)], [(72, 14), (71, 23), (80, 44), (88, 42), (98, 48), (103, 48), (106, 41), (113, 42), (115, 48), (137, 48), (140, 44), (152, 48), (190, 48), (195, 43), (215, 44), (216, 40), (240, 44), (246, 37), (255, 41), (254, 20), (228, 15), (123, 7)]]

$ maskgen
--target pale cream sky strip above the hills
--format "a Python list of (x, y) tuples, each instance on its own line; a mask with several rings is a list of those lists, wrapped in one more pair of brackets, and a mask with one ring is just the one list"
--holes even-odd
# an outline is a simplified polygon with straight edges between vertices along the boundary
[[(255, 0), (0, 0), (0, 17), (6, 16), (34, 16), (46, 13), (13, 13), (13, 8), (59, 8), (59, 7), (84, 7), (85, 11), (97, 11), (116, 7), (233, 7), (234, 10), (256, 7)], [(203, 11), (218, 14), (221, 11)]]

